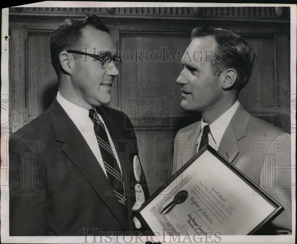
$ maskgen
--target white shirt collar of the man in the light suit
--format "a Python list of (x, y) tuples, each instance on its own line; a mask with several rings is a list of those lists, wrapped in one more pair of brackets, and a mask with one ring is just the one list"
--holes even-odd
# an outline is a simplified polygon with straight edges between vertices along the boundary
[[(238, 108), (240, 102), (236, 100), (236, 102), (228, 109), (224, 114), (222, 114), (219, 118), (217, 118), (214, 122), (209, 125), (209, 129), (212, 137), (214, 138), (217, 146), (220, 145), (223, 134), (230, 123), (233, 115), (235, 114), (236, 109)], [(208, 125), (206, 122), (201, 119), (201, 132), (203, 131), (204, 126)], [(201, 135), (202, 133), (200, 133)], [(198, 141), (197, 141), (198, 143)]]

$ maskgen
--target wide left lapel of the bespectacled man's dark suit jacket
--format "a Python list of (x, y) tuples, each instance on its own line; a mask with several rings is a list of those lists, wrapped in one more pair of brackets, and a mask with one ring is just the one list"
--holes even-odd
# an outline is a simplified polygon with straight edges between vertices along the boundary
[(122, 206), (116, 196), (105, 194), (113, 189), (85, 139), (56, 99), (48, 112), (55, 128), (57, 141), (64, 142), (63, 151), (126, 229), (127, 217)]

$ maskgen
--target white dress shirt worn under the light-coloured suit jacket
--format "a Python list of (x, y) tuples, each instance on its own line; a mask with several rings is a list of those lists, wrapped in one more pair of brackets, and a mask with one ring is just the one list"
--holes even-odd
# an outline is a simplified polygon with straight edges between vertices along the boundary
[[(214, 122), (209, 125), (210, 133), (208, 133), (208, 144), (216, 151), (218, 151), (220, 142), (222, 140), (223, 134), (230, 123), (236, 109), (238, 108), (240, 102), (236, 100), (236, 102), (232, 105), (230, 109), (228, 109), (224, 114), (222, 114), (219, 118), (217, 118)], [(202, 133), (204, 127), (208, 125), (206, 122), (201, 119), (201, 132), (197, 140), (197, 152), (199, 149)]]

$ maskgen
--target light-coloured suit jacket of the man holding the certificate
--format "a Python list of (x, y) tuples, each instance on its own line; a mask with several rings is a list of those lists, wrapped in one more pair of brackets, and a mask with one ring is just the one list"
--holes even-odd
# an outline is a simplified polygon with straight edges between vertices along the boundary
[[(196, 154), (200, 131), (200, 121), (178, 131), (174, 152), (182, 154), (183, 165)], [(190, 143), (190, 150), (182, 150), (185, 142)], [(269, 233), (263, 234), (271, 234), (272, 228), (291, 232), (290, 135), (272, 129), (271, 124), (251, 116), (240, 105), (223, 134), (218, 152), (285, 208), (272, 221)], [(173, 173), (178, 168), (173, 167)]]

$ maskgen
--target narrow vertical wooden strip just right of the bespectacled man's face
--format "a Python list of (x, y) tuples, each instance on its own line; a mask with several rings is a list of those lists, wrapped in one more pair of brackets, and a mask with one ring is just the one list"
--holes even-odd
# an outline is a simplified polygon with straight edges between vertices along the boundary
[[(115, 51), (119, 51), (120, 47), (120, 34), (118, 30), (110, 30), (109, 32), (111, 38), (113, 39), (113, 47)], [(112, 89), (111, 89), (111, 102), (108, 104), (108, 107), (119, 109), (119, 80), (121, 79), (120, 69), (121, 64), (119, 65), (119, 76), (113, 79)]]

